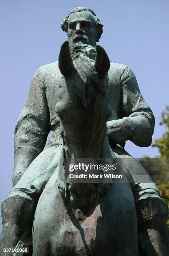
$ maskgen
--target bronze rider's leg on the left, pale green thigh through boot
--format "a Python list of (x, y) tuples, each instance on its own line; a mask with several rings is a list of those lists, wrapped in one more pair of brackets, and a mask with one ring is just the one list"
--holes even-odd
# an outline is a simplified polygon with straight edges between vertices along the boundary
[(59, 164), (61, 148), (45, 148), (3, 201), (0, 256), (6, 255), (2, 248), (14, 248), (20, 239), (30, 243), (35, 208), (45, 184)]

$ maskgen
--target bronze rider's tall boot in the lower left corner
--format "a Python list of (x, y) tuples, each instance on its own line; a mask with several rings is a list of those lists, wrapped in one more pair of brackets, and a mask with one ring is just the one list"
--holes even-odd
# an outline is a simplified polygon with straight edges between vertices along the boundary
[[(31, 244), (31, 233), (35, 213), (35, 200), (26, 195), (11, 195), (2, 203), (1, 215), (3, 230), (0, 236), (0, 256), (13, 255), (5, 253), (5, 248), (15, 248), (21, 240), (25, 245)], [(28, 247), (28, 246), (25, 246)]]

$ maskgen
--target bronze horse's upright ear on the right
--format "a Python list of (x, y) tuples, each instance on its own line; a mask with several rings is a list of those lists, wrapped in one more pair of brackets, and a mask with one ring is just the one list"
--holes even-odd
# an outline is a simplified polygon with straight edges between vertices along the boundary
[(110, 60), (108, 59), (106, 51), (99, 45), (96, 46), (95, 67), (101, 78), (107, 74), (110, 68)]

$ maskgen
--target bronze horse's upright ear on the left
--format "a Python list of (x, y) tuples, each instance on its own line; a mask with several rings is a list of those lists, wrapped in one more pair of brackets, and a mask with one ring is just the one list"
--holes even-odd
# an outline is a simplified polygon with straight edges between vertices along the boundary
[(61, 51), (59, 54), (59, 69), (64, 77), (71, 77), (74, 66), (68, 41), (64, 42), (61, 46)]

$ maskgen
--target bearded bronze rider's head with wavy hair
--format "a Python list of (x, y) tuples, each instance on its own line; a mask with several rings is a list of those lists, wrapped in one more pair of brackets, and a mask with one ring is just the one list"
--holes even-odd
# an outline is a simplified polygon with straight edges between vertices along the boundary
[(61, 28), (67, 33), (70, 46), (79, 43), (96, 46), (103, 32), (103, 24), (96, 14), (85, 7), (73, 9), (63, 20)]

